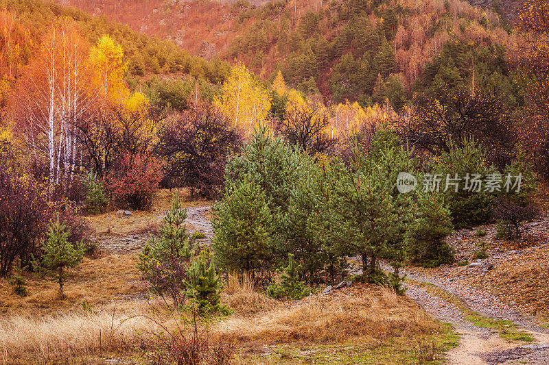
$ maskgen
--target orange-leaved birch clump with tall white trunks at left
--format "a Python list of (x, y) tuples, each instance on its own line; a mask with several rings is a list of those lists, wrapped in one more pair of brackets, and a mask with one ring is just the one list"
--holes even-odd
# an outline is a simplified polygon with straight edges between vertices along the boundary
[(45, 158), (50, 185), (72, 179), (75, 121), (95, 105), (97, 88), (89, 47), (74, 22), (60, 22), (43, 38), (38, 55), (16, 85), (11, 111), (30, 151)]

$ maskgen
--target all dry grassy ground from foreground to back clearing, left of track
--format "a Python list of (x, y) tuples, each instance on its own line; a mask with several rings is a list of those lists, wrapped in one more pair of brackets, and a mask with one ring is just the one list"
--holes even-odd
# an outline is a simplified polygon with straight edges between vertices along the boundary
[[(160, 221), (170, 201), (168, 190), (161, 194), (152, 212), (86, 219), (100, 234), (135, 234)], [(208, 203), (188, 199), (187, 206)], [(140, 364), (150, 360), (159, 333), (181, 326), (191, 331), (188, 314), (141, 299), (147, 288), (135, 266), (138, 255), (84, 258), (69, 270), (65, 299), (58, 298), (55, 282), (33, 275), (25, 277), (30, 292), (25, 298), (0, 281), (0, 364), (101, 364), (114, 357)], [(283, 303), (257, 292), (250, 281), (229, 276), (222, 303), (234, 314), (209, 323), (208, 336), (213, 344), (234, 338), (236, 364), (439, 364), (457, 343), (449, 327), (413, 301), (376, 286)]]

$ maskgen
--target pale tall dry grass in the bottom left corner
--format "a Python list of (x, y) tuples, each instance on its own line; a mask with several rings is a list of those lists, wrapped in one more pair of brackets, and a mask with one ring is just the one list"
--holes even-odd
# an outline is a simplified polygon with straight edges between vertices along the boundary
[(0, 363), (68, 360), (128, 351), (155, 329), (138, 310), (0, 318)]

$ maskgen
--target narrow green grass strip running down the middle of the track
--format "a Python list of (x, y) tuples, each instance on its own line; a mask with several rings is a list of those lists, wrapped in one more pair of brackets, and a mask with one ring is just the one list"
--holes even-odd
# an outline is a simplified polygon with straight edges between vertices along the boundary
[(425, 283), (422, 281), (410, 281), (423, 288), (426, 288), (427, 290), (429, 290), (429, 292), (435, 294), (438, 297), (441, 297), (445, 301), (449, 301), (450, 303), (456, 305), (456, 307), (458, 307), (458, 309), (463, 312), (465, 320), (469, 320), (477, 327), (495, 329), (500, 333), (501, 338), (510, 341), (532, 342), (534, 340), (534, 338), (528, 333), (518, 330), (517, 325), (515, 325), (515, 323), (513, 323), (511, 320), (500, 320), (482, 316), (481, 314), (478, 314), (474, 310), (471, 310), (469, 307), (467, 307), (467, 305), (465, 305), (465, 303), (458, 299), (458, 297), (456, 297), (454, 294), (450, 294), (449, 292), (439, 288), (438, 286), (434, 286), (433, 284)]

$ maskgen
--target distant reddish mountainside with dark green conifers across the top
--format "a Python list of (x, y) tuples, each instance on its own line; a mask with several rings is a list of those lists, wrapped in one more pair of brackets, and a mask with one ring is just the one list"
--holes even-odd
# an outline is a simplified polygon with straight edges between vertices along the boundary
[(454, 81), (467, 85), (471, 62), (486, 63), (479, 67), (486, 73), (481, 78), (505, 74), (505, 50), (517, 43), (506, 20), (514, 2), (486, 10), (459, 0), (63, 3), (108, 14), (138, 32), (173, 40), (191, 54), (241, 60), (264, 80), (272, 81), (280, 70), (288, 84), (320, 92), (325, 101), (368, 105), (382, 102), (387, 92), (379, 95), (379, 89), (389, 88), (399, 94), (392, 99), (401, 99), (391, 100), (397, 109), (412, 92), (430, 86), (418, 80), (433, 60), (428, 84), (447, 58), (458, 58), (463, 64), (452, 62), (443, 73), (458, 73), (460, 80)]

